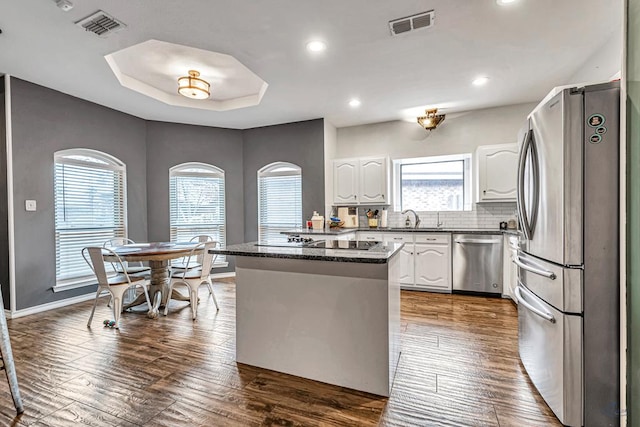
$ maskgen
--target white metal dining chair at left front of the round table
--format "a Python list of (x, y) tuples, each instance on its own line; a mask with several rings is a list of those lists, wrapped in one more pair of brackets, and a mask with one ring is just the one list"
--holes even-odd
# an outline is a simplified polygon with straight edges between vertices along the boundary
[[(109, 256), (111, 260), (115, 261), (105, 261), (104, 257)], [(89, 264), (89, 267), (96, 275), (96, 279), (98, 280), (98, 290), (96, 291), (96, 299), (93, 302), (93, 309), (91, 310), (91, 315), (89, 316), (89, 321), (87, 322), (87, 327), (91, 327), (91, 321), (93, 320), (93, 314), (96, 311), (96, 306), (98, 305), (98, 298), (100, 294), (104, 291), (107, 291), (111, 295), (112, 308), (113, 308), (113, 317), (115, 320), (115, 328), (118, 329), (120, 327), (120, 313), (122, 312), (122, 298), (127, 289), (140, 286), (142, 291), (144, 292), (144, 296), (147, 300), (147, 306), (151, 307), (151, 302), (149, 300), (149, 292), (147, 291), (147, 287), (150, 282), (148, 279), (141, 276), (130, 276), (124, 268), (122, 259), (116, 254), (113, 250), (108, 248), (101, 247), (86, 247), (82, 249), (82, 257)], [(116, 273), (109, 277), (107, 273), (107, 269), (105, 268), (105, 263), (108, 264), (119, 264), (121, 267), (122, 273)]]

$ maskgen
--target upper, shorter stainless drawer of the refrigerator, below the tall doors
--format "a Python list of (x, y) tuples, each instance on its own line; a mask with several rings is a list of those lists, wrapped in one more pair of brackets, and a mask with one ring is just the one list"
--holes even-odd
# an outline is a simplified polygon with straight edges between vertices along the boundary
[(522, 251), (514, 262), (520, 281), (531, 292), (565, 313), (583, 312), (581, 269), (561, 267)]

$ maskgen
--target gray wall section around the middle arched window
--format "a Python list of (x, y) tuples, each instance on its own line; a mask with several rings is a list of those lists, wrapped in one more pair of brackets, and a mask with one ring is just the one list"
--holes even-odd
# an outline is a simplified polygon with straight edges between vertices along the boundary
[[(169, 240), (169, 169), (202, 162), (225, 172), (227, 244), (244, 242), (242, 131), (147, 122), (147, 206), (150, 241)], [(233, 271), (233, 258), (223, 271)]]

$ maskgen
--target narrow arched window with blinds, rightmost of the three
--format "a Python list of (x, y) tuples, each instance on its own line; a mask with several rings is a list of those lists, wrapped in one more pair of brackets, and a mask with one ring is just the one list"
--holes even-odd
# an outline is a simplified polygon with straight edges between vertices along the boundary
[(302, 169), (271, 163), (258, 171), (258, 238), (282, 238), (281, 231), (302, 227)]

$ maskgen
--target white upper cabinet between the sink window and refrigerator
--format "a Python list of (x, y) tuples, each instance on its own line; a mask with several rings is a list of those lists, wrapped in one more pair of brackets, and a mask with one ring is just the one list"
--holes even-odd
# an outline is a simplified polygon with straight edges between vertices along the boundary
[(476, 151), (478, 202), (516, 200), (518, 144), (483, 145)]

